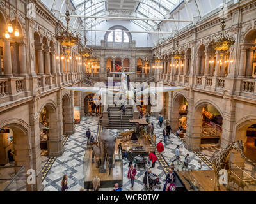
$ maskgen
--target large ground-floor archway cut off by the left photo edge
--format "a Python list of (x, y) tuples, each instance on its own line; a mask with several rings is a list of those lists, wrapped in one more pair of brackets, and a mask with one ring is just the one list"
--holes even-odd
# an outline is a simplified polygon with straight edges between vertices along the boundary
[(4, 166), (0, 169), (0, 191), (10, 182), (12, 189), (9, 186), (6, 191), (31, 191), (31, 186), (26, 186), (26, 170), (32, 161), (28, 138), (28, 130), (17, 123), (0, 125), (0, 166)]

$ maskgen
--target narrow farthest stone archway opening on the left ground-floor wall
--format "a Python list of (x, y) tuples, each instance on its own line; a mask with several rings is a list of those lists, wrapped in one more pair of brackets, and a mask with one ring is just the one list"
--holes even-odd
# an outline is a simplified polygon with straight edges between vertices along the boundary
[(72, 99), (66, 92), (62, 97), (62, 116), (63, 116), (63, 128), (64, 135), (70, 135), (74, 133), (74, 106), (71, 104)]

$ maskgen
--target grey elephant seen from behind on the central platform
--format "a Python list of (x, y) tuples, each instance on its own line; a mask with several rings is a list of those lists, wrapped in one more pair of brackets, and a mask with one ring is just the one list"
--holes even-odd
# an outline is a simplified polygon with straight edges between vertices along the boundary
[(115, 153), (115, 143), (116, 138), (113, 134), (106, 129), (104, 129), (98, 138), (99, 145), (100, 145), (100, 158), (101, 158), (101, 165), (99, 173), (106, 173), (104, 168), (106, 157), (108, 156), (108, 168), (109, 168), (109, 175), (111, 173), (111, 168), (113, 168), (113, 155)]

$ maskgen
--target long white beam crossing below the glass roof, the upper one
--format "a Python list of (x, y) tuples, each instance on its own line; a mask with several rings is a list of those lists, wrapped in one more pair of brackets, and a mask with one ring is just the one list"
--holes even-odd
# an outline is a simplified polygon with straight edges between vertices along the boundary
[[(65, 17), (65, 15), (61, 15), (61, 17)], [(71, 18), (102, 18), (102, 19), (107, 19), (107, 20), (152, 20), (152, 21), (170, 21), (170, 22), (192, 22), (192, 20), (184, 20), (184, 19), (162, 19), (162, 18), (135, 18), (135, 17), (97, 17), (97, 16), (92, 16), (92, 15), (70, 15)]]

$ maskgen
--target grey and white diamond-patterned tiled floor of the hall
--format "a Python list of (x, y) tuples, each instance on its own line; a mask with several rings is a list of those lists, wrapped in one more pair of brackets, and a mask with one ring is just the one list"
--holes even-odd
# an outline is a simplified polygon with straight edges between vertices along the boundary
[[(92, 130), (92, 135), (97, 135), (97, 117), (84, 117), (81, 120), (81, 124), (77, 124), (76, 126), (76, 133), (71, 135), (67, 142), (65, 143), (65, 152), (62, 156), (57, 157), (54, 163), (51, 166), (51, 169), (45, 176), (45, 179), (43, 181), (43, 184), (45, 186), (44, 191), (61, 191), (61, 179), (64, 174), (68, 175), (68, 191), (79, 191), (81, 187), (83, 187), (83, 156), (86, 150), (86, 142), (87, 139), (85, 137), (85, 133), (87, 128), (90, 128)], [(154, 117), (150, 117), (150, 122), (154, 123), (155, 132), (157, 135), (156, 141), (159, 142), (159, 140), (163, 140), (163, 128), (159, 128), (157, 125), (157, 120)], [(113, 134), (116, 135), (116, 133), (120, 130), (116, 129), (110, 129)], [(171, 135), (170, 139), (168, 140), (168, 145), (164, 145), (165, 151), (163, 153), (164, 160), (160, 160), (156, 162), (155, 168), (152, 168), (152, 172), (159, 175), (161, 184), (161, 190), (163, 189), (164, 179), (166, 179), (166, 171), (167, 166), (172, 163), (172, 160), (174, 159), (174, 150), (177, 145), (180, 145), (180, 164), (175, 162), (177, 168), (180, 168), (181, 164), (183, 163), (184, 157), (187, 153), (189, 153), (189, 165), (188, 168), (195, 169), (199, 157), (196, 156), (193, 152), (189, 152), (184, 148), (184, 143), (177, 138), (175, 135)], [(128, 173), (128, 163), (127, 159), (124, 159), (123, 161), (123, 191), (131, 191), (131, 182), (127, 179), (127, 173)], [(165, 167), (165, 171), (163, 169)], [(209, 167), (203, 163), (203, 168), (208, 169)], [(137, 170), (137, 176), (138, 178), (134, 182), (134, 191), (146, 191), (144, 185), (143, 185), (143, 177), (146, 170), (148, 170), (148, 167), (146, 170), (143, 168), (136, 168)], [(111, 188), (105, 188), (100, 189), (100, 191), (110, 191)]]

